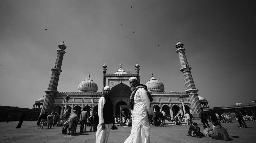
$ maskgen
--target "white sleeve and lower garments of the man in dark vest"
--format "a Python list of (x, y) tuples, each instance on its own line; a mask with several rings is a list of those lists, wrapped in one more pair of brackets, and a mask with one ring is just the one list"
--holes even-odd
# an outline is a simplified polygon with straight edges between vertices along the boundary
[(98, 104), (98, 113), (99, 113), (99, 124), (97, 126), (97, 132), (96, 132), (96, 143), (107, 143), (108, 142), (108, 138), (109, 138), (109, 133), (111, 131), (111, 128), (113, 126), (113, 124), (105, 124), (106, 129), (102, 130), (101, 129), (101, 124), (104, 123), (104, 119), (103, 119), (103, 108), (104, 108), (104, 104), (105, 104), (106, 100), (105, 98), (102, 96), (99, 99), (99, 104)]

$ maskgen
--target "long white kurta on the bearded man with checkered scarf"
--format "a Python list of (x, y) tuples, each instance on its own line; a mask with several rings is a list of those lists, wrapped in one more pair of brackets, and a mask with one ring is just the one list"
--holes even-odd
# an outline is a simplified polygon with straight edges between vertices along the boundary
[(124, 143), (148, 143), (150, 133), (150, 121), (147, 114), (155, 117), (153, 108), (150, 107), (150, 100), (147, 92), (139, 88), (134, 95), (132, 112), (132, 132)]

